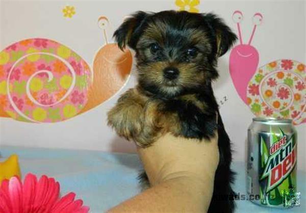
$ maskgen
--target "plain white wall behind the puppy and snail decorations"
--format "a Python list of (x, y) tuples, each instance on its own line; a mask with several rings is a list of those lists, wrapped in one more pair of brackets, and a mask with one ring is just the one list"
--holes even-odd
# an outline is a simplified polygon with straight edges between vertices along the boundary
[[(173, 1), (1, 1), (1, 49), (32, 37), (56, 40), (75, 50), (90, 65), (98, 48), (104, 44), (97, 26), (101, 15), (110, 20), (113, 31), (123, 17), (137, 10), (161, 11), (177, 9)], [(62, 8), (69, 4), (76, 14), (67, 19)], [(259, 66), (276, 59), (293, 59), (305, 64), (305, 2), (303, 1), (201, 1), (200, 12), (213, 11), (237, 32), (232, 21), (235, 10), (244, 13), (241, 24), (244, 40), (252, 30), (252, 16), (261, 12), (264, 21), (257, 29), (253, 46), (260, 52)], [(217, 98), (227, 96), (221, 105), (225, 127), (233, 144), (236, 160), (244, 159), (247, 127), (253, 117), (239, 98), (228, 71), (229, 53), (219, 60), (220, 78), (215, 84)], [(135, 76), (121, 90), (135, 85)], [(104, 151), (134, 152), (134, 145), (118, 138), (106, 125), (106, 113), (119, 94), (98, 107), (70, 120), (54, 124), (34, 124), (1, 118), (1, 144)], [(305, 169), (305, 125), (298, 130), (298, 166)]]

